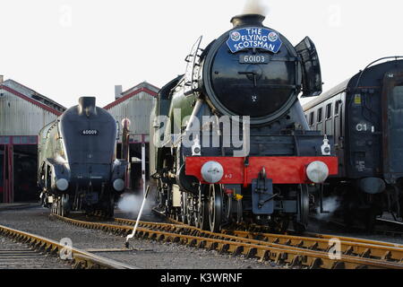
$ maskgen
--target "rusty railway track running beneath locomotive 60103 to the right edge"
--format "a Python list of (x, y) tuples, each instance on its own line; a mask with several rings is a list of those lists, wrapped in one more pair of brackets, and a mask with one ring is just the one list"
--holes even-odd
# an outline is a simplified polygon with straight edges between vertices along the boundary
[[(111, 224), (52, 216), (83, 228), (106, 230), (121, 236), (131, 233), (135, 224), (133, 220), (119, 218)], [(333, 239), (318, 234), (297, 237), (237, 230), (212, 233), (180, 223), (155, 222), (139, 222), (136, 237), (255, 257), (288, 267), (403, 269), (403, 246), (371, 240)], [(340, 253), (330, 254), (338, 245)]]

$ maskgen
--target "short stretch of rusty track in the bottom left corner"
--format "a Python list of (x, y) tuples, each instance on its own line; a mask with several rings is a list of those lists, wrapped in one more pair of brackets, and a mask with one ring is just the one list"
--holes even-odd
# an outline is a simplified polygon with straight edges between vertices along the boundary
[[(4, 268), (42, 268), (41, 264), (47, 260), (46, 257), (61, 258), (62, 252), (66, 252), (64, 254), (66, 260), (76, 269), (135, 268), (78, 248), (66, 248), (54, 240), (2, 225), (0, 225), (0, 238), (4, 238), (5, 242), (0, 248), (0, 267)], [(23, 243), (23, 245), (15, 248), (15, 244), (13, 244), (15, 242)]]

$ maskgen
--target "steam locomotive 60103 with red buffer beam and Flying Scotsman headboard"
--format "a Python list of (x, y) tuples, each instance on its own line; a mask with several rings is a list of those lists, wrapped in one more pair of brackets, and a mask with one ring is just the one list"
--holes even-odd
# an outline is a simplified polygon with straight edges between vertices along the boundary
[(322, 92), (313, 42), (294, 47), (264, 19), (234, 17), (205, 49), (198, 39), (151, 115), (158, 208), (204, 230), (304, 230), (310, 189), (338, 171), (332, 138), (309, 130), (298, 100)]

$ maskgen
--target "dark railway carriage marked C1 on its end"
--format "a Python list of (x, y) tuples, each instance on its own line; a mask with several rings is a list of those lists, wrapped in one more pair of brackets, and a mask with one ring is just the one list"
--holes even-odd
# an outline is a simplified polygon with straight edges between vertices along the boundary
[(371, 229), (383, 211), (403, 220), (401, 58), (376, 60), (304, 105), (309, 126), (334, 136), (339, 176), (329, 179), (324, 194), (339, 196), (348, 225), (364, 219)]

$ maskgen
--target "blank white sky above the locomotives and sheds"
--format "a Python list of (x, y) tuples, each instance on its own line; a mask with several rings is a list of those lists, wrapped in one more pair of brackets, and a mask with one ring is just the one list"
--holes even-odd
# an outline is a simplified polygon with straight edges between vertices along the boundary
[[(83, 95), (101, 107), (148, 81), (184, 73), (184, 57), (231, 28), (246, 0), (0, 0), (0, 74), (65, 107)], [(265, 25), (294, 45), (313, 39), (324, 90), (379, 57), (403, 55), (399, 0), (262, 0)]]

